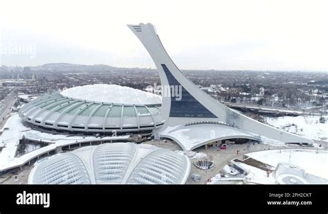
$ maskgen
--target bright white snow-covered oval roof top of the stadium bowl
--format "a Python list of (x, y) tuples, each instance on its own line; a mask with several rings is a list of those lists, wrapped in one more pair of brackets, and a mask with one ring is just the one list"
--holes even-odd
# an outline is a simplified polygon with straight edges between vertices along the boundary
[(129, 105), (151, 105), (162, 102), (162, 97), (157, 94), (116, 84), (88, 84), (66, 89), (60, 94), (78, 100)]

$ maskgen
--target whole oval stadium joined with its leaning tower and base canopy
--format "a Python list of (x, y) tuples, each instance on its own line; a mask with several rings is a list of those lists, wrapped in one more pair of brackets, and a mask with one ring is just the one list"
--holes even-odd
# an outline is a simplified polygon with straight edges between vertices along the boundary
[(226, 107), (179, 70), (152, 24), (128, 26), (156, 64), (161, 97), (117, 85), (73, 87), (29, 102), (19, 111), (23, 121), (70, 134), (152, 134), (172, 139), (183, 150), (225, 139), (313, 143)]

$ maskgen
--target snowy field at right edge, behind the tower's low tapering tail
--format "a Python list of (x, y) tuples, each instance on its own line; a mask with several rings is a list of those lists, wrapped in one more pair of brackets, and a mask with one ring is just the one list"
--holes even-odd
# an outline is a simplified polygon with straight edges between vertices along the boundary
[[(328, 123), (320, 123), (319, 118), (320, 116), (266, 117), (266, 123), (311, 139), (327, 141)], [(328, 121), (328, 116), (325, 118)]]

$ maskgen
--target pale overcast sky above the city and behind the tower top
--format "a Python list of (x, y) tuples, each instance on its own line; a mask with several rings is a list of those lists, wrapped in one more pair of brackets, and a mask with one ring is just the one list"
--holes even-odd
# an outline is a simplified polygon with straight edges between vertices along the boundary
[(150, 22), (181, 69), (327, 71), (327, 8), (325, 0), (0, 0), (0, 64), (154, 68), (126, 26)]

